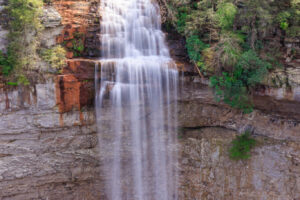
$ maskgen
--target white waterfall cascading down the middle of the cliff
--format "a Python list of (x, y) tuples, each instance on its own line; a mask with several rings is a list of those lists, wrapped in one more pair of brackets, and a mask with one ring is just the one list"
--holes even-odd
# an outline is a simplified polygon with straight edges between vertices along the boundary
[(96, 109), (109, 200), (177, 199), (178, 72), (151, 0), (101, 0)]

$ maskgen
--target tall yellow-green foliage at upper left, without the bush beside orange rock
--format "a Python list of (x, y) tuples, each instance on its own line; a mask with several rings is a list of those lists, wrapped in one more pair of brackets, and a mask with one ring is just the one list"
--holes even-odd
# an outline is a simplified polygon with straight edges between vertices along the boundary
[(17, 80), (19, 84), (29, 83), (25, 71), (37, 60), (37, 38), (42, 30), (42, 6), (42, 0), (9, 0), (6, 7), (10, 18), (9, 45), (5, 64), (1, 64), (2, 73), (7, 76), (10, 74), (10, 78)]

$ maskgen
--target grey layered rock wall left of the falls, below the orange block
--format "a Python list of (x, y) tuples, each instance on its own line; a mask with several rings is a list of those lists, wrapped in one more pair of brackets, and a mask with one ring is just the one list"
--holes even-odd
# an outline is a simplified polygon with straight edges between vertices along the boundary
[(1, 200), (99, 199), (93, 110), (59, 112), (55, 90), (0, 90)]

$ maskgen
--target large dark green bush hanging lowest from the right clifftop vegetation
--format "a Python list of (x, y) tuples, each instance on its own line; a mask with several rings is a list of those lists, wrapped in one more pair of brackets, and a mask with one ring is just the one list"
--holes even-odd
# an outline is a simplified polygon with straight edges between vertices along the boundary
[(263, 80), (271, 67), (270, 63), (261, 60), (254, 51), (243, 53), (233, 72), (223, 72), (222, 76), (211, 77), (211, 87), (215, 89), (216, 100), (223, 100), (244, 113), (252, 112), (248, 91)]

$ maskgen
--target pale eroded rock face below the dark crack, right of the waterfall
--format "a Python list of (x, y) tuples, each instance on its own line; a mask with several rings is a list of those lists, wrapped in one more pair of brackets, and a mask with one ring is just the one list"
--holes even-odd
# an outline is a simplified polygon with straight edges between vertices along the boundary
[(251, 159), (233, 161), (228, 148), (235, 135), (226, 128), (183, 131), (180, 199), (300, 198), (299, 142), (256, 136)]

